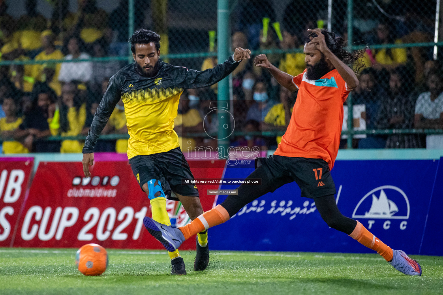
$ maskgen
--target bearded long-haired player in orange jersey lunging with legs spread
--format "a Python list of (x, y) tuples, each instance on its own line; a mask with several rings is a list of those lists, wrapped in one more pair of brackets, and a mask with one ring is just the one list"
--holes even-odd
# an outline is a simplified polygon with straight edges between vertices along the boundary
[(254, 199), (295, 181), (302, 197), (314, 199), (328, 226), (377, 251), (400, 272), (421, 276), (420, 264), (415, 260), (401, 250), (392, 250), (360, 222), (338, 210), (330, 169), (340, 143), (343, 103), (358, 86), (358, 79), (348, 65), (357, 61), (361, 52), (347, 52), (343, 38), (335, 37), (330, 31), (308, 31), (303, 50), (306, 69), (298, 76), (280, 71), (264, 54), (254, 61), (256, 66), (268, 69), (283, 87), (291, 91), (298, 89), (291, 121), (277, 150), (268, 158), (256, 159), (256, 169), (247, 178), (260, 178), (261, 185), (241, 185), (238, 195), (229, 195), (223, 203), (178, 229), (148, 217), (144, 218), (144, 225), (166, 249), (173, 251), (192, 235), (227, 221)]

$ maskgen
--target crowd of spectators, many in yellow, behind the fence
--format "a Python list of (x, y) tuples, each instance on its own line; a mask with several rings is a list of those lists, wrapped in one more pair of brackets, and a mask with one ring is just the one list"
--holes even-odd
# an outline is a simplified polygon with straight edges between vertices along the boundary
[[(340, 1), (334, 1), (334, 5), (335, 2)], [(397, 9), (404, 16), (395, 19), (387, 18), (370, 5), (364, 6), (363, 2), (368, 1), (354, 4), (357, 11), (354, 20), (356, 44), (370, 46), (432, 40), (432, 16), (426, 9), (412, 5), (412, 0), (384, 1), (385, 5), (390, 5), (385, 7), (391, 9), (387, 11)], [(128, 54), (128, 1), (121, 0), (110, 15), (97, 8), (95, 0), (78, 0), (76, 13), (68, 11), (67, 0), (57, 1), (51, 19), (35, 11), (36, 0), (26, 0), (27, 15), (20, 19), (13, 19), (6, 13), (5, 1), (0, 3), (1, 60), (39, 61), (32, 65), (0, 67), (3, 152), (81, 152), (82, 141), (42, 139), (51, 135), (76, 137), (87, 134), (109, 77), (124, 64), (118, 61), (70, 61)], [(284, 10), (283, 22), (264, 30), (263, 18), (268, 18), (270, 23), (276, 22), (272, 0), (245, 0), (237, 5), (231, 49), (274, 50), (274, 53), (267, 54), (272, 64), (292, 76), (303, 73), (304, 54), (294, 50), (303, 49), (307, 29), (323, 23), (327, 7), (319, 5), (314, 13), (310, 2), (292, 0)], [(346, 15), (346, 6), (334, 9), (337, 13), (334, 14), (333, 30), (346, 39), (346, 17), (342, 17)], [(345, 9), (342, 14), (340, 9)], [(142, 26), (143, 11), (136, 9), (136, 27)], [(281, 50), (288, 52), (280, 53)], [(352, 95), (353, 104), (365, 107), (361, 117), (367, 130), (443, 128), (443, 65), (439, 63), (440, 55), (438, 57), (437, 61), (433, 60), (431, 47), (365, 50), (365, 66), (358, 76), (360, 85)], [(51, 59), (66, 62), (44, 62)], [(174, 60), (170, 62), (174, 64)], [(200, 69), (210, 69), (216, 64), (215, 57), (208, 57), (202, 61)], [(231, 145), (275, 149), (281, 137), (272, 131), (281, 133), (286, 129), (296, 96), (296, 92), (280, 87), (268, 71), (254, 67), (253, 57), (241, 61), (232, 73), (230, 103), (235, 130), (245, 134), (233, 136)], [(218, 117), (210, 106), (216, 100), (216, 85), (183, 92), (175, 120), (183, 150), (217, 146), (217, 140), (204, 135), (218, 130)], [(274, 135), (257, 135), (260, 131)], [(124, 105), (120, 101), (102, 134), (127, 132)], [(202, 136), (189, 137), (188, 133)], [(126, 139), (100, 140), (96, 151), (125, 153), (127, 145)], [(353, 145), (355, 148), (443, 149), (443, 135), (368, 134), (365, 138), (354, 139)], [(343, 140), (341, 147), (345, 146)]]

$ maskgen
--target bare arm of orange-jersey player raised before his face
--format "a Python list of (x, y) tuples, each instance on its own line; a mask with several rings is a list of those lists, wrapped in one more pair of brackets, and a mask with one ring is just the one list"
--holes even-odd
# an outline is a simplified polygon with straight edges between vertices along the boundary
[(356, 88), (358, 86), (358, 79), (357, 76), (355, 76), (354, 70), (348, 67), (343, 61), (335, 56), (332, 51), (329, 50), (328, 46), (326, 46), (325, 36), (322, 34), (320, 29), (307, 31), (317, 34), (317, 37), (311, 37), (311, 42), (309, 42), (308, 44), (315, 44), (317, 46), (317, 49), (325, 55), (325, 58), (328, 59), (332, 65), (334, 65), (340, 76), (342, 76), (343, 80), (345, 80), (347, 84), (347, 90), (352, 90)]

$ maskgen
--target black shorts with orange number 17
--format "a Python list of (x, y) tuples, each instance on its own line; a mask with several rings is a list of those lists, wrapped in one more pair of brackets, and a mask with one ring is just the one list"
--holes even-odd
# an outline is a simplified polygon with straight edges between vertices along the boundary
[(334, 195), (337, 192), (329, 166), (323, 159), (271, 155), (257, 158), (256, 168), (259, 166), (263, 166), (268, 176), (270, 192), (292, 181), (298, 184), (302, 197), (306, 198)]

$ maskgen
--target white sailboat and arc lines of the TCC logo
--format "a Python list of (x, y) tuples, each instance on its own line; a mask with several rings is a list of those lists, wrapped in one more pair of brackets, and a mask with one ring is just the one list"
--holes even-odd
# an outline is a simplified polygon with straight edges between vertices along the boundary
[[(398, 215), (399, 209), (397, 204), (394, 203), (391, 199), (388, 198), (386, 192), (392, 190), (399, 192), (406, 202), (407, 213), (406, 215)], [(398, 194), (398, 193), (396, 193)], [(372, 204), (369, 207), (369, 211), (365, 211), (364, 215), (357, 215), (356, 212), (360, 207), (361, 203), (368, 198), (372, 197)], [(365, 202), (366, 205), (369, 205), (368, 202)], [(361, 210), (360, 210), (361, 212)], [(352, 218), (383, 218), (383, 219), (408, 219), (409, 218), (409, 200), (406, 194), (396, 186), (393, 185), (384, 185), (378, 188), (374, 188), (372, 191), (368, 192), (361, 200), (358, 202), (357, 206), (354, 209), (354, 213), (352, 214)]]

